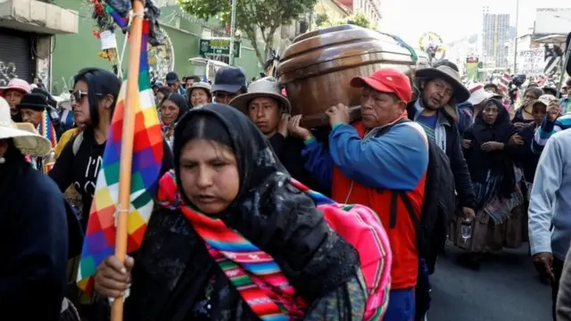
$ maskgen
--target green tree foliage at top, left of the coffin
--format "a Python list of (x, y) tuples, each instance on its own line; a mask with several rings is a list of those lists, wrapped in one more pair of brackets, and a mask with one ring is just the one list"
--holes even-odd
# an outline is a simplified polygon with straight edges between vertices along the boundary
[[(281, 25), (288, 25), (303, 13), (313, 11), (318, 0), (236, 0), (236, 29), (241, 30), (252, 42), (252, 47), (263, 65), (269, 51), (274, 47), (274, 37)], [(199, 19), (208, 20), (219, 16), (219, 20), (230, 25), (231, 0), (178, 0), (184, 12)], [(261, 36), (264, 47), (258, 45)]]

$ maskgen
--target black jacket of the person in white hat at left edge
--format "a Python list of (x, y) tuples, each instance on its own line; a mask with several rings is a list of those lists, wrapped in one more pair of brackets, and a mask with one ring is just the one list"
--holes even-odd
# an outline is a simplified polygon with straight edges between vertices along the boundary
[(65, 201), (23, 157), (14, 165), (0, 170), (0, 307), (19, 320), (57, 321), (67, 279)]

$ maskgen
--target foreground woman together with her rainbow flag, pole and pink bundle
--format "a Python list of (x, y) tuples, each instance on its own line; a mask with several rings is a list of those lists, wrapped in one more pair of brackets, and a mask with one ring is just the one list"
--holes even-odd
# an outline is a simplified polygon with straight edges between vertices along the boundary
[[(113, 321), (382, 317), (392, 257), (377, 216), (368, 209), (342, 215), (345, 206), (314, 195), (330, 206), (329, 218), (352, 223), (334, 230), (314, 192), (294, 185), (240, 111), (211, 103), (186, 113), (175, 128), (175, 170), (162, 175), (170, 151), (146, 52), (137, 51), (153, 25), (143, 21), (141, 2), (133, 12), (128, 80), (95, 186), (79, 287), (115, 299)], [(368, 223), (357, 226), (353, 215)], [(360, 234), (341, 236), (353, 230)], [(363, 235), (368, 242), (353, 247)], [(367, 269), (360, 251), (368, 251)]]

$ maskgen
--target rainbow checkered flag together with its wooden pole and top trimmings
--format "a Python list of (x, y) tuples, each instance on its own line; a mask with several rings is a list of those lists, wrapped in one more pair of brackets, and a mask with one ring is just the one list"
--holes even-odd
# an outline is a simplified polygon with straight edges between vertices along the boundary
[[(160, 32), (154, 29), (158, 28), (154, 10), (144, 11), (145, 6), (153, 9), (153, 3), (121, 1), (132, 1), (129, 8), (132, 10), (118, 12), (105, 4), (121, 29), (127, 32), (130, 28), (128, 77), (117, 97), (79, 260), (78, 286), (89, 296), (95, 290), (97, 267), (106, 258), (115, 254), (124, 262), (127, 253), (137, 251), (143, 243), (153, 213), (164, 152), (146, 53), (147, 43), (152, 41), (151, 32), (153, 42), (158, 41), (157, 32)], [(125, 296), (113, 300), (112, 321), (123, 319), (124, 300)]]

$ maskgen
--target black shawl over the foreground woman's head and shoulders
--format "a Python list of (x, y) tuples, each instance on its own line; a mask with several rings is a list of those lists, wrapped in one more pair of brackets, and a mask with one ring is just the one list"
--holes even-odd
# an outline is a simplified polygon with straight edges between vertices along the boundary
[[(287, 183), (268, 140), (242, 113), (219, 104), (189, 111), (175, 132), (175, 169), (185, 143), (181, 132), (188, 119), (201, 114), (224, 124), (236, 151), (241, 188), (220, 218), (276, 260), (310, 303), (305, 320), (362, 319), (366, 290), (357, 252), (328, 226), (308, 196)], [(212, 275), (219, 294), (211, 300), (212, 320), (258, 319), (182, 213), (155, 211), (136, 256), (127, 319), (188, 320)]]

